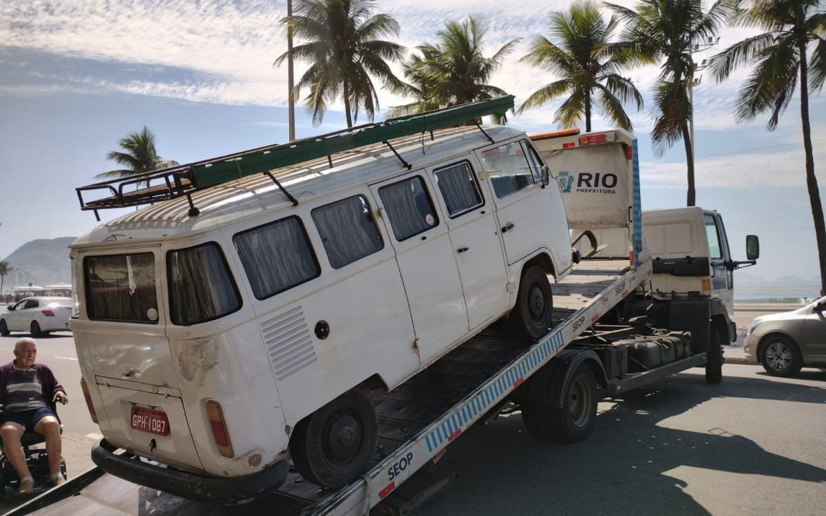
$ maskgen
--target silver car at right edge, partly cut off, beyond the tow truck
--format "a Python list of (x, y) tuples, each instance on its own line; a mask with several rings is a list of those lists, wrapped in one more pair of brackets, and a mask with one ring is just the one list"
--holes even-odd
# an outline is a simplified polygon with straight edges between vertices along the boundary
[(795, 376), (800, 367), (826, 367), (826, 297), (799, 310), (761, 315), (743, 343), (746, 358), (773, 376)]

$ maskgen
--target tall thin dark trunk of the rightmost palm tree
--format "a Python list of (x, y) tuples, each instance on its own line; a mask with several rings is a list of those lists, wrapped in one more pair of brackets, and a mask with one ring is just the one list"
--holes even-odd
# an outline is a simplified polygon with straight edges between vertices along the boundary
[(812, 205), (814, 219), (814, 237), (818, 243), (818, 258), (820, 262), (820, 293), (826, 292), (826, 225), (824, 225), (824, 209), (820, 203), (818, 179), (814, 176), (814, 153), (812, 151), (812, 128), (809, 125), (809, 64), (806, 62), (806, 41), (800, 38), (797, 41), (800, 52), (800, 118), (803, 121), (803, 149), (806, 154), (806, 187), (809, 188), (809, 203)]

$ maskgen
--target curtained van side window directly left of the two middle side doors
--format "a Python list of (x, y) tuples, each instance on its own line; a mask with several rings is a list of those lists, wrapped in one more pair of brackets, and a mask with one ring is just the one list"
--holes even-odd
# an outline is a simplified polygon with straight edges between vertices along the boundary
[(353, 196), (311, 211), (333, 268), (341, 268), (384, 247), (367, 199)]

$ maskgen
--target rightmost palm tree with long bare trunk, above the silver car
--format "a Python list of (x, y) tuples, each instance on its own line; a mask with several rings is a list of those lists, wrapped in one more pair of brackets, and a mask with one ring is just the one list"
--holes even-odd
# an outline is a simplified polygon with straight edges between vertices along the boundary
[[(826, 225), (818, 180), (814, 176), (809, 125), (809, 93), (819, 92), (826, 79), (826, 12), (819, 11), (818, 7), (819, 0), (747, 0), (741, 3), (730, 23), (765, 32), (715, 55), (711, 60), (711, 73), (716, 80), (723, 80), (738, 66), (754, 64), (754, 70), (738, 92), (734, 112), (737, 121), (743, 122), (771, 111), (768, 130), (777, 127), (800, 78), (806, 186), (818, 243), (820, 285), (826, 291)], [(811, 58), (807, 54), (810, 42), (817, 42)]]

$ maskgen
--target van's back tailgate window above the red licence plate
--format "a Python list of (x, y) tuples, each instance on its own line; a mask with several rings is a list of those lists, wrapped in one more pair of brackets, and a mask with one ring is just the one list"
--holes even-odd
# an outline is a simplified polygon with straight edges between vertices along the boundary
[(83, 258), (90, 320), (158, 324), (153, 253)]

